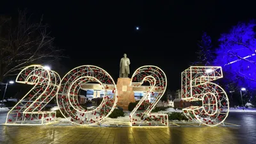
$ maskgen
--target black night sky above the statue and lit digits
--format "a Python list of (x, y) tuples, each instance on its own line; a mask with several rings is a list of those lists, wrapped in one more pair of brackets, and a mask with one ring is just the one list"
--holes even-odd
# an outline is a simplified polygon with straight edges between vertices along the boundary
[[(61, 61), (64, 74), (80, 65), (104, 68), (115, 79), (123, 54), (130, 70), (156, 65), (168, 78), (168, 89), (180, 88), (180, 72), (196, 59), (202, 31), (213, 42), (220, 33), (241, 20), (255, 19), (253, 1), (1, 1), (0, 14), (15, 17), (27, 8), (33, 20), (44, 22), (56, 37), (54, 44), (65, 49), (69, 59)], [(136, 31), (136, 26), (140, 29)]]

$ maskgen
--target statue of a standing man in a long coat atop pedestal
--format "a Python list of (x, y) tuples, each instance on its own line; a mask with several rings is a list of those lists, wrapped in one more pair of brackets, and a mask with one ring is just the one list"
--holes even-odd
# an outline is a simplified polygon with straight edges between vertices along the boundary
[(130, 74), (130, 60), (127, 58), (127, 55), (124, 54), (124, 58), (121, 58), (120, 60), (120, 76), (119, 77), (128, 77), (128, 74)]

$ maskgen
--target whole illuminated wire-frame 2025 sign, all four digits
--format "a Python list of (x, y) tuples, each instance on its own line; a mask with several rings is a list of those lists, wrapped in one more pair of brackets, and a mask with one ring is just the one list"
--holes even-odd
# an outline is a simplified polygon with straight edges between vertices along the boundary
[[(205, 68), (211, 68), (212, 72), (205, 73)], [(217, 75), (216, 69), (220, 69), (220, 76)], [(208, 83), (210, 80), (222, 77), (221, 67), (190, 67), (189, 70), (182, 72), (182, 99), (202, 100), (203, 103), (202, 106), (183, 109), (184, 113), (190, 120), (196, 120), (201, 124), (210, 126), (221, 124), (228, 113), (227, 95), (220, 86)], [(211, 74), (214, 76), (209, 76)], [(61, 114), (70, 122), (77, 125), (94, 125), (108, 117), (116, 108), (118, 101), (115, 81), (108, 72), (93, 65), (76, 67), (61, 81), (56, 72), (40, 65), (31, 65), (20, 72), (16, 81), (34, 86), (9, 111), (6, 124), (41, 125), (54, 122), (56, 112), (42, 111), (42, 109), (56, 96)], [(134, 72), (131, 86), (141, 86), (145, 81), (150, 85), (140, 102), (131, 111), (131, 126), (168, 126), (168, 115), (151, 113), (166, 90), (166, 75), (160, 68), (146, 65)], [(79, 104), (78, 93), (83, 84), (92, 82), (102, 86), (104, 97), (97, 108), (86, 109)], [(113, 95), (108, 96), (108, 91)], [(149, 102), (148, 95), (152, 95), (155, 100)]]

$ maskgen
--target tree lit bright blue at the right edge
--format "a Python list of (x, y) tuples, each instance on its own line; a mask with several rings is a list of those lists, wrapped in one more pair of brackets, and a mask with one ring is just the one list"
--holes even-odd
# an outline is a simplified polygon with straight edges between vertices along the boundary
[(224, 33), (218, 40), (214, 65), (222, 66), (228, 81), (237, 85), (256, 88), (256, 39), (255, 21), (239, 22), (229, 33)]

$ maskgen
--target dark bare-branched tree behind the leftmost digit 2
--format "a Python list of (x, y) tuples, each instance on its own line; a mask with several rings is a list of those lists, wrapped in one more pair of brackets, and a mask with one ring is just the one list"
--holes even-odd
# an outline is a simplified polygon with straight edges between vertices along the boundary
[(62, 50), (53, 45), (54, 38), (47, 32), (47, 24), (31, 22), (24, 11), (18, 19), (0, 17), (0, 82), (17, 75), (30, 64), (42, 64), (62, 56)]

